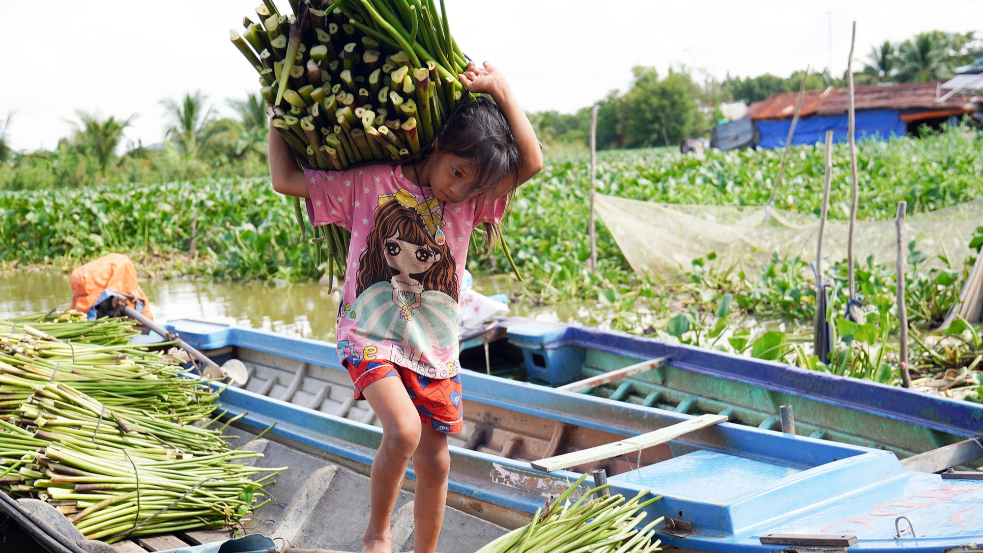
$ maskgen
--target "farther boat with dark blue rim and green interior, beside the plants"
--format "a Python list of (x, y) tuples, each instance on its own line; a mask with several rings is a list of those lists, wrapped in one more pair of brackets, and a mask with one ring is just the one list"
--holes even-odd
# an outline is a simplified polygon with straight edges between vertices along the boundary
[[(513, 318), (464, 345), (470, 348), (462, 347), (463, 366), (484, 367), (479, 350), (487, 345), (499, 367), (502, 361), (514, 367), (499, 374), (549, 386), (663, 359), (654, 370), (584, 392), (675, 412), (723, 413), (731, 422), (776, 430), (779, 407), (787, 404), (799, 435), (884, 449), (899, 459), (983, 435), (983, 404), (660, 339)], [(966, 445), (962, 459), (978, 466), (969, 460), (983, 451)], [(925, 458), (906, 462), (935, 466)]]

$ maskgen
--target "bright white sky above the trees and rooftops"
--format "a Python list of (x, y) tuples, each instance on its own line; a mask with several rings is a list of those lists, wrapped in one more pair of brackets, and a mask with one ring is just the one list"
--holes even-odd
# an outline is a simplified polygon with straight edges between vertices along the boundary
[[(14, 111), (16, 150), (52, 148), (75, 110), (126, 118), (127, 139), (163, 139), (162, 98), (201, 89), (220, 111), (225, 98), (259, 91), (256, 73), (229, 43), (261, 0), (4, 0), (0, 118)], [(286, 0), (276, 0), (288, 12)], [(624, 89), (634, 65), (661, 72), (685, 64), (718, 78), (805, 65), (846, 68), (850, 22), (857, 54), (920, 31), (973, 31), (978, 0), (446, 0), (450, 27), (465, 53), (495, 63), (527, 110), (570, 112)], [(862, 67), (862, 66), (861, 66)], [(125, 142), (125, 141), (124, 141)]]

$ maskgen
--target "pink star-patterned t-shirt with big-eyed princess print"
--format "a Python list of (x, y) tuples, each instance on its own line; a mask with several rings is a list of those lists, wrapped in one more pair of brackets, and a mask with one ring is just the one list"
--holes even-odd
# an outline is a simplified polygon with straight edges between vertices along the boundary
[(304, 171), (315, 225), (352, 232), (338, 308), (338, 356), (386, 359), (430, 378), (460, 370), (457, 300), (471, 231), (502, 199), (441, 204), (400, 165)]

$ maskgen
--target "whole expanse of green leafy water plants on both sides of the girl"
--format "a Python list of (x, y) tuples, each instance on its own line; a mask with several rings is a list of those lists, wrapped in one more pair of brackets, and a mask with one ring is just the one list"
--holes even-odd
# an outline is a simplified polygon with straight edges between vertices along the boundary
[[(918, 140), (860, 144), (860, 218), (889, 219), (899, 200), (907, 201), (913, 214), (983, 197), (981, 146), (980, 134), (965, 128)], [(669, 203), (760, 205), (767, 200), (779, 159), (771, 151), (703, 156), (665, 150), (604, 152), (599, 155), (599, 190)], [(848, 174), (845, 147), (835, 149), (834, 161), (836, 174)], [(819, 149), (793, 149), (777, 206), (818, 212), (822, 166)], [(868, 310), (868, 321), (858, 328), (841, 316), (846, 266), (830, 266), (829, 321), (838, 338), (834, 357), (821, 360), (807, 345), (816, 296), (814, 276), (801, 259), (777, 254), (742, 271), (723, 266), (710, 253), (681, 267), (678, 275), (639, 276), (599, 224), (599, 265), (596, 273), (590, 272), (588, 176), (586, 156), (553, 158), (520, 189), (505, 236), (527, 279), (512, 284), (513, 299), (536, 305), (576, 302), (577, 319), (602, 328), (897, 382), (893, 260), (858, 260), (859, 291)], [(843, 177), (835, 183), (830, 214), (845, 218), (848, 184)], [(163, 259), (176, 274), (291, 281), (317, 278), (324, 271), (313, 248), (302, 242), (291, 206), (272, 192), (265, 178), (0, 192), (0, 210), (5, 215), (0, 218), (0, 263), (7, 265), (71, 267), (118, 251), (136, 254), (142, 264)], [(194, 258), (189, 255), (192, 220), (197, 221)], [(967, 246), (983, 247), (983, 228)], [(907, 248), (915, 378), (970, 370), (983, 351), (968, 329), (950, 338), (929, 332), (947, 313), (966, 268), (926, 255), (917, 239)], [(505, 274), (507, 267), (497, 250), (469, 257), (469, 268), (477, 274)]]

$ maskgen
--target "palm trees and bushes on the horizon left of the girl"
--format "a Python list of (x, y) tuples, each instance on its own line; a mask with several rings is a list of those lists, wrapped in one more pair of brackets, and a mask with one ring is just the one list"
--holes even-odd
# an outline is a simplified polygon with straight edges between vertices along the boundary
[(52, 150), (15, 152), (12, 117), (0, 124), (0, 189), (78, 188), (117, 182), (168, 182), (202, 177), (255, 176), (266, 168), (266, 104), (259, 93), (228, 99), (234, 117), (219, 116), (202, 92), (161, 100), (166, 113), (160, 145), (130, 143), (116, 154), (126, 119), (77, 111), (69, 136)]

